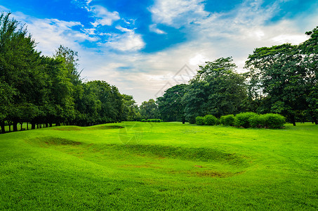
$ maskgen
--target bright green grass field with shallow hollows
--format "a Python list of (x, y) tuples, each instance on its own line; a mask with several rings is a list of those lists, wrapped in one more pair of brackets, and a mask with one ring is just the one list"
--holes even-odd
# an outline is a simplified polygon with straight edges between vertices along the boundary
[(318, 210), (318, 126), (124, 122), (0, 135), (0, 210)]

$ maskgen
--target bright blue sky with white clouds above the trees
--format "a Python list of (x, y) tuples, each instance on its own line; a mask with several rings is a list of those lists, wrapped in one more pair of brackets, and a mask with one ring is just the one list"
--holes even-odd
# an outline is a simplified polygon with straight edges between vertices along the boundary
[(317, 0), (0, 0), (37, 49), (79, 52), (84, 80), (100, 79), (140, 104), (186, 82), (198, 65), (253, 49), (299, 44), (318, 25)]

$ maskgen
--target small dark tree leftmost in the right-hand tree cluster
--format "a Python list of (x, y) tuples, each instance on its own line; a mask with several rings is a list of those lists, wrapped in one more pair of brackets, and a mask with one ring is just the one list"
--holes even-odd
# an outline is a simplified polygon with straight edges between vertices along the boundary
[(158, 110), (164, 121), (182, 121), (185, 123), (182, 98), (186, 89), (186, 84), (178, 84), (167, 89), (164, 96), (157, 98)]

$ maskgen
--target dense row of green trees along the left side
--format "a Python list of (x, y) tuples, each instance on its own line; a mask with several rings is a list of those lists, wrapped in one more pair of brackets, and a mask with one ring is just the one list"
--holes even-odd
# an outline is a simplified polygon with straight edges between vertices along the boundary
[[(41, 56), (25, 27), (0, 16), (0, 124), (18, 130), (30, 122), (86, 126), (141, 119), (132, 96), (107, 82), (82, 82), (77, 52), (60, 46), (53, 57)], [(11, 127), (9, 127), (11, 128)]]

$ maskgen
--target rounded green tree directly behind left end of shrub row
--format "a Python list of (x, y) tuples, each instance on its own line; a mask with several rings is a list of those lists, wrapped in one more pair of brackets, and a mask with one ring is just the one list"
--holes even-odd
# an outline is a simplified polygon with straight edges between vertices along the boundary
[(185, 116), (194, 123), (195, 117), (207, 114), (220, 117), (239, 113), (246, 98), (244, 76), (235, 70), (232, 57), (218, 58), (199, 66), (183, 97)]

